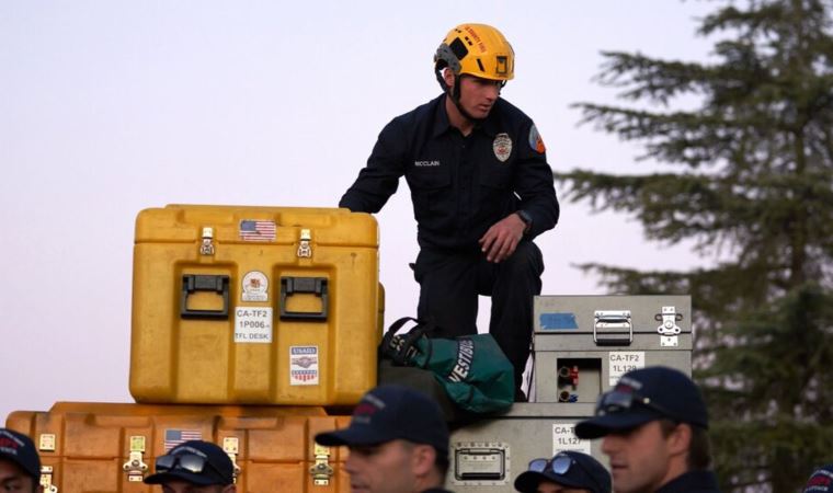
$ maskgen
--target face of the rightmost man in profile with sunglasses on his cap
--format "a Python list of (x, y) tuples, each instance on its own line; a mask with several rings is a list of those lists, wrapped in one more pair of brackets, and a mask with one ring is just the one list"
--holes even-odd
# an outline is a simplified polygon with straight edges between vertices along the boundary
[(653, 492), (667, 482), (671, 479), (667, 478), (669, 445), (659, 421), (605, 436), (602, 451), (611, 458), (613, 491)]

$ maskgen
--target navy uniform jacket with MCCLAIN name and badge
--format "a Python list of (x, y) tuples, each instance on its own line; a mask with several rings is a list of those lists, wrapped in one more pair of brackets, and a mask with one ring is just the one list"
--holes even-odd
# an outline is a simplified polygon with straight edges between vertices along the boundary
[(527, 238), (554, 228), (559, 205), (552, 170), (533, 121), (501, 98), (464, 137), (448, 123), (445, 98), (381, 130), (367, 167), (339, 206), (378, 213), (404, 175), (423, 249), (478, 249), (492, 225), (518, 209), (533, 220)]

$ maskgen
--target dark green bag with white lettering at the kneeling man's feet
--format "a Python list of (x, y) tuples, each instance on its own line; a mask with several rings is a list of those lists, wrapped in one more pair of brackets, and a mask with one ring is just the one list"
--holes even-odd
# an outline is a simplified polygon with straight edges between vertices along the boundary
[[(397, 332), (409, 321), (416, 325), (403, 335)], [(505, 411), (515, 398), (514, 368), (489, 334), (456, 339), (431, 337), (436, 326), (404, 317), (385, 333), (380, 356), (395, 365), (431, 370), (460, 409), (472, 413)]]

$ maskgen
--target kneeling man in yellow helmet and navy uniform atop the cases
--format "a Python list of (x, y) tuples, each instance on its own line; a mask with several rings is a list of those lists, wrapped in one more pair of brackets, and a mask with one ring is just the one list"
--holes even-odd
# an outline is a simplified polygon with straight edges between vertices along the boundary
[(514, 64), (497, 28), (453, 28), (434, 55), (443, 94), (381, 130), (339, 206), (378, 213), (404, 175), (420, 245), (418, 317), (433, 319), (438, 336), (475, 334), (478, 295), (491, 296), (489, 332), (512, 362), (523, 400), (544, 272), (533, 239), (556, 226), (559, 205), (535, 124), (500, 96)]

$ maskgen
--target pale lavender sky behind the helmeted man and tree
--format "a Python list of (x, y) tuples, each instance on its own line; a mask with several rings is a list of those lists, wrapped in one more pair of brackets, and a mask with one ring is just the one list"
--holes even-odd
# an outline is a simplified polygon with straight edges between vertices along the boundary
[[(166, 204), (335, 207), (381, 128), (440, 94), (434, 49), (463, 22), (498, 26), (550, 165), (621, 173), (638, 148), (577, 127), (601, 50), (705, 59), (716, 2), (0, 2), (0, 423), (55, 401), (133, 402), (136, 214)], [(572, 265), (686, 268), (685, 248), (561, 202), (537, 240), (545, 295), (604, 294)], [(404, 181), (378, 215), (386, 320), (413, 316), (415, 223)], [(481, 329), (488, 326), (481, 303)]]

